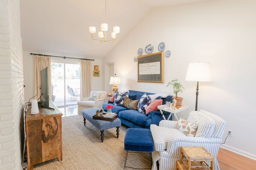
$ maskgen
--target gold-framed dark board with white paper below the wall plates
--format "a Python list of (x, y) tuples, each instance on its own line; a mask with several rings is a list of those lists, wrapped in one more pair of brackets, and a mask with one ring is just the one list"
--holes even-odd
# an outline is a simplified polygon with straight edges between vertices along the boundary
[(138, 82), (164, 83), (164, 52), (138, 57)]

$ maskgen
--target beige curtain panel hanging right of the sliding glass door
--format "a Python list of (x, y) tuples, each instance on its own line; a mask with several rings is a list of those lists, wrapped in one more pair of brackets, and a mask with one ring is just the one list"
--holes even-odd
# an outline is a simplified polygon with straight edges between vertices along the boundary
[(81, 60), (81, 98), (87, 98), (91, 92), (91, 61)]

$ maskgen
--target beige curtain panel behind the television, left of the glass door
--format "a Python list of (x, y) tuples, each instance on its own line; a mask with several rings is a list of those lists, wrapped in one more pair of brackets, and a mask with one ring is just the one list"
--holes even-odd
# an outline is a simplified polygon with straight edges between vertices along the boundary
[[(40, 71), (48, 66), (48, 81), (49, 81), (49, 100), (51, 100), (51, 58), (50, 57), (43, 57), (34, 55), (34, 70), (35, 70), (35, 99), (39, 99), (40, 97), (40, 90), (37, 89), (38, 86), (41, 85), (40, 83)], [(38, 90), (38, 91), (37, 91)]]

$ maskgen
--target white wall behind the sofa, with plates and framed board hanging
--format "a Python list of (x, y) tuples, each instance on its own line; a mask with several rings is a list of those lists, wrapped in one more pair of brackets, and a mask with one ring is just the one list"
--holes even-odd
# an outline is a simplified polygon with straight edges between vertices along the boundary
[[(114, 62), (121, 77), (119, 91), (172, 92), (167, 83), (178, 78), (185, 86), (184, 102), (194, 110), (196, 82), (185, 81), (188, 63), (211, 63), (211, 83), (199, 83), (198, 110), (204, 109), (227, 121), (233, 131), (226, 148), (256, 158), (255, 128), (255, 0), (213, 0), (152, 9), (102, 60)], [(137, 83), (139, 48), (166, 44), (164, 84)], [(143, 55), (145, 52), (143, 52)], [(102, 88), (107, 81), (103, 78)], [(227, 131), (224, 134), (227, 135)]]

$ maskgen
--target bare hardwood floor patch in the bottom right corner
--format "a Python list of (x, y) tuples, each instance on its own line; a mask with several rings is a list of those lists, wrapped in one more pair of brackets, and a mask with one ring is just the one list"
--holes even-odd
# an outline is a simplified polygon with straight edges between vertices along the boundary
[(218, 162), (221, 170), (256, 170), (256, 161), (220, 148)]

